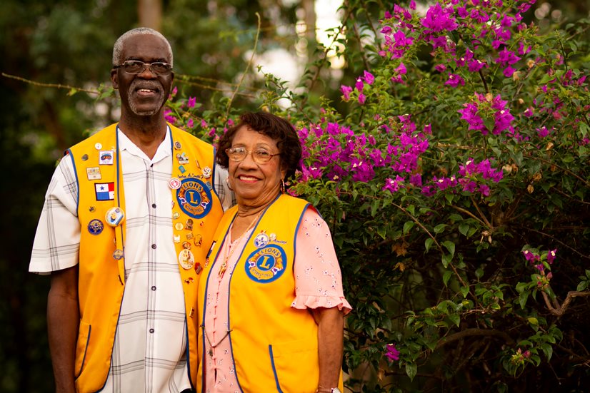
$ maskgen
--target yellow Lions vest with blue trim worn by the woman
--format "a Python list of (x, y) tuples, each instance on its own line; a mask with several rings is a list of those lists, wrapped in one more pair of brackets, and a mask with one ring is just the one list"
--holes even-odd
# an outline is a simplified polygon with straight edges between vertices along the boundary
[[(309, 203), (289, 195), (274, 200), (241, 250), (229, 283), (229, 329), (234, 367), (242, 392), (314, 393), (319, 380), (318, 329), (308, 310), (291, 307), (295, 297), (296, 234)], [(221, 264), (219, 250), (236, 218), (226, 211), (215, 233), (199, 286), (199, 375), (205, 383), (206, 284), (211, 268)], [(341, 386), (341, 383), (340, 383)], [(202, 389), (204, 392), (204, 389)]]

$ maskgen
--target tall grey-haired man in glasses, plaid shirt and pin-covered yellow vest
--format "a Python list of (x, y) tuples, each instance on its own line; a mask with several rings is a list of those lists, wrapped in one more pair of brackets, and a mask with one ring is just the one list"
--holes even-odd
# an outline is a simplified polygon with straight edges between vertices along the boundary
[(115, 43), (121, 118), (56, 168), (29, 270), (51, 274), (57, 392), (184, 392), (196, 379), (196, 286), (223, 209), (214, 148), (164, 120), (172, 50), (157, 31)]

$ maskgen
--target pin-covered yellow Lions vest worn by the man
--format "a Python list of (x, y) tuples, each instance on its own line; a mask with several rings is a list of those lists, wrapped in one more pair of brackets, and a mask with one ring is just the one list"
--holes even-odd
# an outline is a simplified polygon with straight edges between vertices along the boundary
[[(191, 384), (196, 383), (196, 295), (207, 245), (223, 208), (214, 188), (214, 149), (169, 124), (171, 130), (172, 225), (186, 309)], [(80, 327), (76, 347), (76, 391), (96, 392), (111, 364), (125, 288), (125, 195), (117, 125), (113, 124), (67, 152), (78, 183)], [(174, 187), (174, 188), (173, 188)], [(134, 201), (127, 201), (133, 203)], [(117, 210), (119, 209), (119, 210)], [(113, 226), (111, 226), (113, 225)]]

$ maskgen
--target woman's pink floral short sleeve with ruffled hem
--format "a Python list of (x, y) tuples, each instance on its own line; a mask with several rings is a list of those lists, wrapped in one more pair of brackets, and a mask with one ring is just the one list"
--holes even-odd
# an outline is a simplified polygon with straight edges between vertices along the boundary
[(291, 307), (338, 307), (345, 315), (352, 310), (344, 298), (330, 230), (314, 208), (306, 209), (297, 231), (294, 274), (295, 299)]

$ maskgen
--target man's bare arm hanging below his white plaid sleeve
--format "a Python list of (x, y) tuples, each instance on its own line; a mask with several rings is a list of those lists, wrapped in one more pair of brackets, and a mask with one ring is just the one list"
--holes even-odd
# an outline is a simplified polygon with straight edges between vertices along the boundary
[(78, 266), (51, 273), (47, 297), (47, 332), (56, 393), (73, 393), (76, 340), (80, 323)]

